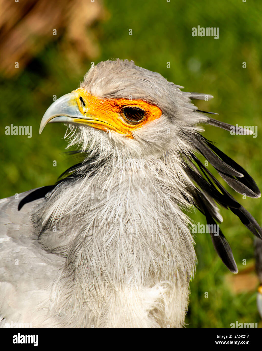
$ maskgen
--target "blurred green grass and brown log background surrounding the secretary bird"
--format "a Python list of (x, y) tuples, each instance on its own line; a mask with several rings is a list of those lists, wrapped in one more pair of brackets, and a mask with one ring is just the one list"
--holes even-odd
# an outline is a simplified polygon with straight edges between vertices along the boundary
[[(91, 62), (118, 57), (161, 73), (185, 91), (214, 95), (213, 100), (195, 104), (218, 112), (222, 121), (258, 126), (257, 138), (215, 127), (206, 127), (205, 136), (244, 166), (262, 188), (262, 2), (43, 1), (0, 0), (5, 6), (0, 20), (1, 198), (53, 184), (75, 163), (63, 153), (66, 127), (47, 125), (39, 136), (41, 117), (53, 95), (60, 97), (78, 87)], [(192, 27), (198, 25), (219, 27), (219, 39), (192, 37)], [(14, 68), (15, 61), (19, 68)], [(11, 124), (32, 126), (33, 137), (5, 135), (5, 126)], [(262, 224), (261, 199), (234, 196)], [(221, 229), (240, 273), (227, 271), (208, 234), (196, 234), (198, 267), (190, 284), (186, 323), (189, 328), (228, 328), (238, 320), (261, 327), (252, 235), (231, 212), (222, 210), (222, 215)], [(191, 217), (205, 223), (198, 213)]]

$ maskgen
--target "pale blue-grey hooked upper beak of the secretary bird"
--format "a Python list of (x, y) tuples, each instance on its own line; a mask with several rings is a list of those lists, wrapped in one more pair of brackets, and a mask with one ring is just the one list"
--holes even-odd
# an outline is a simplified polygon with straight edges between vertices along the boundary
[(71, 118), (83, 118), (83, 114), (79, 111), (76, 94), (69, 93), (61, 96), (53, 102), (53, 104), (46, 110), (39, 128), (39, 134), (47, 123), (65, 122), (70, 123)]

